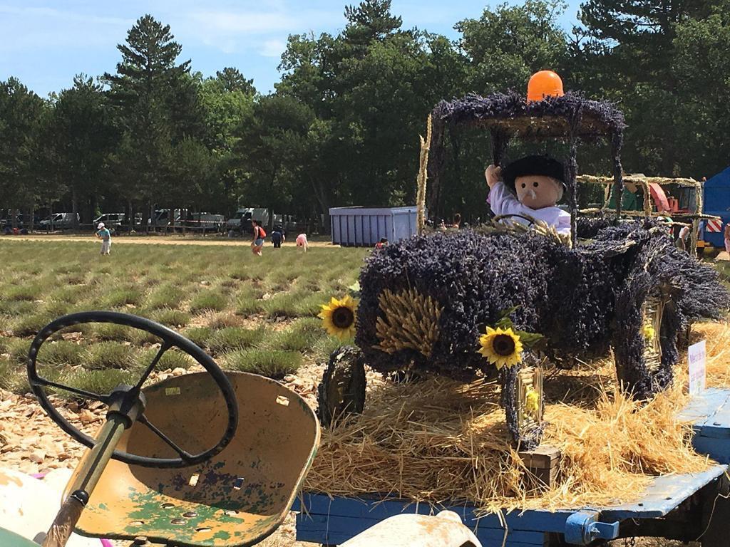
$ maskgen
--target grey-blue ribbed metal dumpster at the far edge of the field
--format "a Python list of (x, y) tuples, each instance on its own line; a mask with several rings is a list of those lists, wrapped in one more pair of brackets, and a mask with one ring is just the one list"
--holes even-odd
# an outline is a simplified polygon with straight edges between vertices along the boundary
[(381, 238), (389, 242), (414, 236), (416, 207), (333, 207), (329, 210), (332, 243), (344, 247), (372, 247)]

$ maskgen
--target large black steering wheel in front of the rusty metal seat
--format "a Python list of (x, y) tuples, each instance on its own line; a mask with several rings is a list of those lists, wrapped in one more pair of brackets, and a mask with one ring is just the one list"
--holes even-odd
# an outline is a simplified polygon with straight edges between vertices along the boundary
[[(50, 337), (50, 335), (72, 325), (95, 322), (125, 325), (127, 327), (144, 330), (145, 332), (151, 333), (161, 339), (162, 342), (159, 351), (152, 362), (150, 362), (150, 365), (148, 365), (142, 373), (142, 377), (136, 385), (119, 386), (114, 389), (112, 393), (102, 395), (59, 384), (58, 382), (50, 381), (38, 375), (36, 371), (36, 358), (40, 347)], [(220, 389), (220, 392), (223, 393), (223, 398), (226, 400), (226, 408), (228, 410), (228, 424), (226, 425), (226, 431), (215, 446), (212, 446), (212, 448), (199, 454), (190, 454), (180, 448), (180, 446), (177, 446), (177, 444), (165, 435), (164, 432), (158, 430), (158, 428), (147, 419), (144, 413), (145, 397), (142, 394), (142, 384), (144, 384), (145, 380), (147, 380), (150, 376), (150, 373), (154, 370), (162, 355), (173, 346), (193, 357), (194, 360), (199, 362), (199, 364), (208, 371), (210, 376), (213, 377), (213, 380), (215, 380), (215, 383), (218, 384), (218, 388)], [(115, 311), (82, 311), (77, 314), (64, 315), (64, 317), (59, 317), (58, 319), (55, 319), (55, 321), (50, 322), (39, 331), (31, 344), (31, 349), (28, 351), (28, 381), (31, 384), (31, 389), (34, 394), (38, 397), (39, 403), (48, 413), (48, 416), (50, 416), (50, 418), (53, 419), (53, 421), (58, 424), (62, 430), (89, 448), (94, 446), (94, 439), (82, 433), (70, 424), (64, 416), (61, 416), (55, 406), (53, 406), (53, 404), (50, 403), (50, 400), (48, 400), (48, 396), (44, 389), (45, 387), (63, 389), (66, 392), (71, 392), (87, 399), (101, 401), (101, 403), (104, 403), (107, 406), (113, 405), (115, 408), (137, 407), (139, 409), (139, 413), (135, 416), (137, 421), (145, 424), (145, 426), (152, 430), (155, 435), (161, 438), (166, 444), (172, 447), (177, 454), (180, 455), (180, 457), (177, 458), (157, 458), (138, 456), (137, 454), (129, 454), (128, 452), (115, 450), (112, 458), (128, 464), (142, 465), (148, 468), (183, 468), (188, 465), (199, 464), (210, 459), (215, 456), (215, 454), (218, 454), (226, 448), (228, 443), (231, 442), (238, 426), (238, 405), (233, 387), (231, 387), (231, 382), (228, 381), (226, 374), (220, 370), (215, 361), (212, 360), (212, 357), (193, 344), (193, 342), (188, 340), (188, 338), (174, 332), (174, 330), (170, 330), (159, 323), (150, 321), (150, 319), (137, 317), (135, 315), (120, 314)], [(134, 417), (130, 419), (128, 427), (131, 427), (132, 420), (134, 420)]]

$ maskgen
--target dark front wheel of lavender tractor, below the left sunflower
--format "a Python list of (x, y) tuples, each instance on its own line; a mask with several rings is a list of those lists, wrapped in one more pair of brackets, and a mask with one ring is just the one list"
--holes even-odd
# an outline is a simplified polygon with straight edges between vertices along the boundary
[(317, 387), (318, 417), (324, 427), (346, 414), (365, 408), (365, 361), (359, 349), (342, 346), (329, 356)]

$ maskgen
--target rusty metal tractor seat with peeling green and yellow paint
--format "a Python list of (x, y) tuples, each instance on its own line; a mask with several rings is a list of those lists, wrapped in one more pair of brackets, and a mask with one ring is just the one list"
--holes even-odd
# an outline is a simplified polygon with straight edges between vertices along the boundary
[[(77, 532), (174, 546), (255, 545), (287, 516), (314, 458), (319, 424), (307, 403), (276, 381), (228, 373), (239, 407), (226, 449), (189, 468), (155, 469), (112, 460)], [(167, 379), (143, 390), (146, 414), (189, 451), (215, 443), (226, 427), (223, 396), (207, 373)], [(174, 451), (135, 423), (118, 449), (151, 457)], [(66, 492), (68, 494), (68, 492)]]

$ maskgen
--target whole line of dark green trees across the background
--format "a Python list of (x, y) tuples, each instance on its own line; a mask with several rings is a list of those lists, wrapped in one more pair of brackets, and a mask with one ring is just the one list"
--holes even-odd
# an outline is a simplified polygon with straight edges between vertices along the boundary
[[(0, 82), (0, 208), (230, 214), (258, 206), (310, 218), (331, 206), (415, 201), (418, 134), (437, 102), (524, 92), (541, 69), (566, 89), (614, 101), (629, 128), (628, 172), (710, 176), (729, 162), (730, 0), (586, 0), (567, 31), (558, 0), (485, 8), (455, 21), (458, 39), (404, 28), (390, 0), (345, 7), (337, 35), (289, 36), (280, 81), (261, 94), (234, 67), (213, 77), (180, 59), (169, 26), (139, 18), (115, 71), (78, 74), (41, 98)], [(485, 214), (488, 136), (445, 141), (432, 212)], [(558, 146), (537, 144), (538, 150)], [(608, 174), (601, 144), (583, 173)]]

